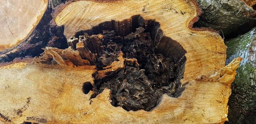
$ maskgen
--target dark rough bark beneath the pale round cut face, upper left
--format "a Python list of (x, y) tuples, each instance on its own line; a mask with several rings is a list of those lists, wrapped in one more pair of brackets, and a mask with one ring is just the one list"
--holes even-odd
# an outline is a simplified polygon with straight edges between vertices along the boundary
[[(52, 10), (57, 3), (49, 0), (48, 8), (35, 30), (15, 48), (0, 52), (0, 62), (10, 62), (18, 57), (39, 56), (44, 51), (41, 48), (51, 46), (56, 48), (67, 48), (67, 39), (64, 36), (64, 26), (51, 25)], [(59, 4), (60, 2), (58, 2)]]

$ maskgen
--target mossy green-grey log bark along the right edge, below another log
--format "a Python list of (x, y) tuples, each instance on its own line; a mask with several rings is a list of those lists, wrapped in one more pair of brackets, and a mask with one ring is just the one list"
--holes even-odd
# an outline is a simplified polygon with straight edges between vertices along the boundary
[(231, 124), (256, 124), (256, 28), (228, 40), (226, 45), (227, 63), (237, 56), (243, 57), (232, 83), (229, 121)]

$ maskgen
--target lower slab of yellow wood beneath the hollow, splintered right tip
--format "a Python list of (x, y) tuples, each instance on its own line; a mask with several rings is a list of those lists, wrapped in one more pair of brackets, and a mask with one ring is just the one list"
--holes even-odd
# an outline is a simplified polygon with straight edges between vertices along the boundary
[[(28, 64), (26, 68), (0, 69), (0, 121), (13, 123), (223, 123), (227, 120), (230, 85), (241, 58), (208, 79), (190, 81), (182, 95), (164, 95), (152, 111), (129, 111), (113, 107), (110, 90), (90, 99), (82, 92), (84, 82), (93, 82), (93, 69)], [(209, 78), (209, 79), (211, 79)]]

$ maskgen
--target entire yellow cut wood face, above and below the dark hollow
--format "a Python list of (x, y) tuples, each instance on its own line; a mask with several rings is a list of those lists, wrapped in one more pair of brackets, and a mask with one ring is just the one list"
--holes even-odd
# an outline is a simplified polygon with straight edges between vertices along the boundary
[(138, 14), (145, 20), (156, 20), (163, 34), (179, 42), (187, 52), (182, 81), (186, 88), (178, 98), (164, 95), (152, 111), (127, 112), (111, 105), (108, 89), (94, 99), (90, 99), (91, 91), (82, 92), (84, 82), (93, 82), (94, 69), (42, 64), (27, 64), (18, 69), (12, 65), (0, 69), (0, 120), (60, 124), (224, 123), (230, 85), (241, 58), (224, 67), (223, 39), (217, 33), (190, 28), (198, 16), (196, 10), (190, 0), (81, 0), (67, 5), (55, 18), (57, 25), (65, 26), (67, 38), (99, 23), (129, 20)]

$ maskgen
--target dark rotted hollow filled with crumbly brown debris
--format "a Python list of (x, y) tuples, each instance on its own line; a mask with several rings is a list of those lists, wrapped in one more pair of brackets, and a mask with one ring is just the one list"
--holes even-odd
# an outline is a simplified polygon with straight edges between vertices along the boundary
[(178, 97), (184, 90), (180, 79), (186, 51), (177, 41), (166, 37), (155, 20), (135, 15), (123, 21), (100, 23), (91, 30), (79, 31), (68, 44), (76, 46), (81, 57), (99, 71), (119, 61), (120, 55), (126, 58), (123, 68), (106, 73), (104, 78), (93, 75), (96, 80), (91, 98), (108, 88), (113, 106), (150, 111), (163, 94)]

